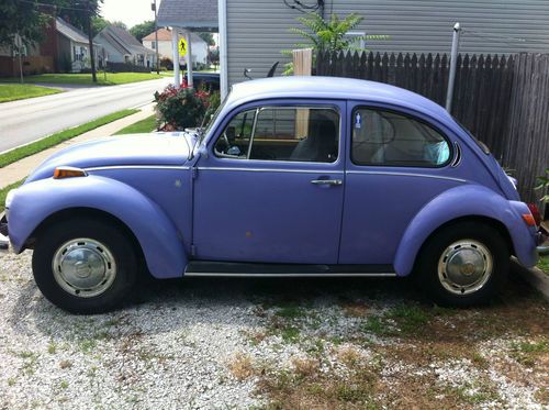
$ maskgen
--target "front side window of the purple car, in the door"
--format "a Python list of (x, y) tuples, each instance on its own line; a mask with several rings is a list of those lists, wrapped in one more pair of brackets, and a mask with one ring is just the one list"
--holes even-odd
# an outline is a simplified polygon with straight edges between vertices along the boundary
[(235, 115), (214, 148), (219, 157), (333, 163), (338, 145), (334, 109), (262, 107)]

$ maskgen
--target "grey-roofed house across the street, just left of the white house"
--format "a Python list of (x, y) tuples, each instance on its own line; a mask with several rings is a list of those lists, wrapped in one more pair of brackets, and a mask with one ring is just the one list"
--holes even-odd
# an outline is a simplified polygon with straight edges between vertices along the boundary
[(144, 47), (132, 34), (115, 25), (104, 27), (93, 41), (102, 48), (98, 56), (101, 67), (107, 62), (142, 67), (154, 65), (155, 51)]

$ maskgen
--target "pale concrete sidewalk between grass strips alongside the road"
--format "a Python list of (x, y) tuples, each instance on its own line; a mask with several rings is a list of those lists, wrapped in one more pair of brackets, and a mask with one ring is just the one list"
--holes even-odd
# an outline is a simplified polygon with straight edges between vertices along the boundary
[(154, 104), (147, 104), (141, 108), (139, 112), (135, 114), (124, 117), (123, 119), (110, 122), (109, 124), (97, 128), (96, 130), (88, 131), (81, 135), (78, 135), (71, 140), (65, 141), (59, 145), (53, 146), (51, 148), (41, 151), (37, 154), (27, 156), (16, 163), (7, 165), (3, 168), (0, 168), (0, 189), (4, 188), (11, 184), (14, 184), (31, 174), (31, 171), (36, 168), (44, 159), (51, 156), (56, 151), (63, 149), (69, 145), (81, 143), (89, 140), (98, 140), (102, 137), (111, 136), (117, 131), (122, 130), (127, 125), (132, 125), (133, 123), (144, 120), (147, 117), (153, 115), (154, 113)]

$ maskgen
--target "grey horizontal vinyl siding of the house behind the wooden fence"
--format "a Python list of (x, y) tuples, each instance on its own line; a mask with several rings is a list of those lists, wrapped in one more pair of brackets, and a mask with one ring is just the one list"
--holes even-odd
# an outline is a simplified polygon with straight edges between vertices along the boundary
[[(289, 33), (303, 15), (282, 0), (227, 1), (228, 82), (244, 80), (244, 68), (265, 77), (273, 62), (277, 75), (289, 59), (280, 54), (301, 38)], [(305, 3), (313, 3), (309, 0)], [(549, 52), (549, 0), (326, 0), (325, 15), (357, 12), (357, 31), (385, 34), (370, 42), (373, 52), (449, 53), (453, 23), (464, 29), (461, 53)]]

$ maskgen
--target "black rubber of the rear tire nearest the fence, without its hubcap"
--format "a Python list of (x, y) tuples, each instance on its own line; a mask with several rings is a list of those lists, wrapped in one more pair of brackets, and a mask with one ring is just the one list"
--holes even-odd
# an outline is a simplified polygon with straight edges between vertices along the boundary
[[(442, 257), (442, 254), (448, 255), (447, 250), (452, 244), (460, 241), (468, 243), (468, 240), (471, 240), (472, 246), (481, 244), (484, 250), (489, 251), (492, 258), (492, 269), (488, 280), (482, 286), (480, 286), (482, 280), (479, 279), (479, 289), (471, 286), (469, 292), (460, 295), (458, 292), (463, 292), (464, 288), (460, 289), (459, 286), (456, 286), (453, 291), (448, 290), (448, 287), (451, 288), (448, 282), (455, 282), (448, 280), (446, 268), (441, 267), (439, 275), (439, 262), (446, 266), (445, 263), (448, 258)], [(459, 250), (459, 246), (453, 247), (453, 250)], [(509, 257), (507, 243), (496, 229), (473, 221), (457, 223), (436, 232), (424, 244), (415, 267), (416, 282), (419, 288), (425, 289), (436, 302), (442, 306), (464, 308), (482, 304), (490, 301), (505, 281), (509, 269)]]

